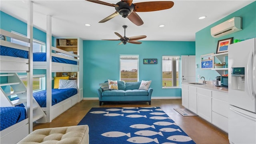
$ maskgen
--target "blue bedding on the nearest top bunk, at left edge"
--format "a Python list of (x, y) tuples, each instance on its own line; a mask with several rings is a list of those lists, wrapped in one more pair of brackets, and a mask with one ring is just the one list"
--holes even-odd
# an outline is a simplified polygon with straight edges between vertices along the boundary
[(28, 51), (26, 50), (19, 50), (16, 48), (10, 48), (6, 46), (0, 46), (0, 55), (1, 56), (13, 56), (19, 58), (28, 58)]

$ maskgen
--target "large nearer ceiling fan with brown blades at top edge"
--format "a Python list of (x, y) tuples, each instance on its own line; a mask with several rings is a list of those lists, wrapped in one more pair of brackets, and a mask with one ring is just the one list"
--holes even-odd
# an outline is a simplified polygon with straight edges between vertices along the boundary
[(120, 14), (123, 18), (127, 17), (131, 22), (133, 22), (137, 26), (142, 25), (144, 22), (136, 12), (152, 12), (157, 10), (166, 10), (172, 8), (172, 6), (174, 5), (174, 2), (172, 1), (138, 2), (134, 4), (132, 3), (132, 0), (121, 0), (116, 4), (110, 4), (107, 2), (102, 2), (100, 0), (87, 1), (115, 7), (116, 12), (104, 18), (99, 23), (106, 22)]

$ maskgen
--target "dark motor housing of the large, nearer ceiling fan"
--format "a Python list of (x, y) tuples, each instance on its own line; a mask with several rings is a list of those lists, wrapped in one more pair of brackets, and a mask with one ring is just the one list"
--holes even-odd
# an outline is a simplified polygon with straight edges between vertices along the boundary
[(118, 6), (115, 6), (116, 11), (123, 18), (126, 18), (127, 16), (129, 16), (134, 10), (134, 4), (131, 4), (129, 6), (129, 4), (127, 4), (126, 2), (120, 1), (120, 2), (116, 3), (116, 5), (118, 5)]

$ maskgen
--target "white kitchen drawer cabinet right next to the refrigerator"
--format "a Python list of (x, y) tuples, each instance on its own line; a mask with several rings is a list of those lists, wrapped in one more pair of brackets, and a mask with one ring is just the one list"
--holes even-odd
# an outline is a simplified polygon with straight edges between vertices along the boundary
[(212, 91), (212, 124), (228, 132), (228, 94)]

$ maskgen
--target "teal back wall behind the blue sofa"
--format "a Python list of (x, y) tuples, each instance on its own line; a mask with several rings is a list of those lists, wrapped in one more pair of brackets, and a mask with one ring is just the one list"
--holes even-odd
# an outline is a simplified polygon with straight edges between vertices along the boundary
[[(120, 79), (120, 54), (139, 55), (139, 80), (152, 80), (152, 97), (181, 96), (180, 88), (162, 89), (162, 56), (195, 55), (195, 42), (141, 41), (118, 45), (119, 41), (84, 40), (84, 97), (98, 97), (99, 84)], [(143, 64), (157, 58), (157, 64)]]

